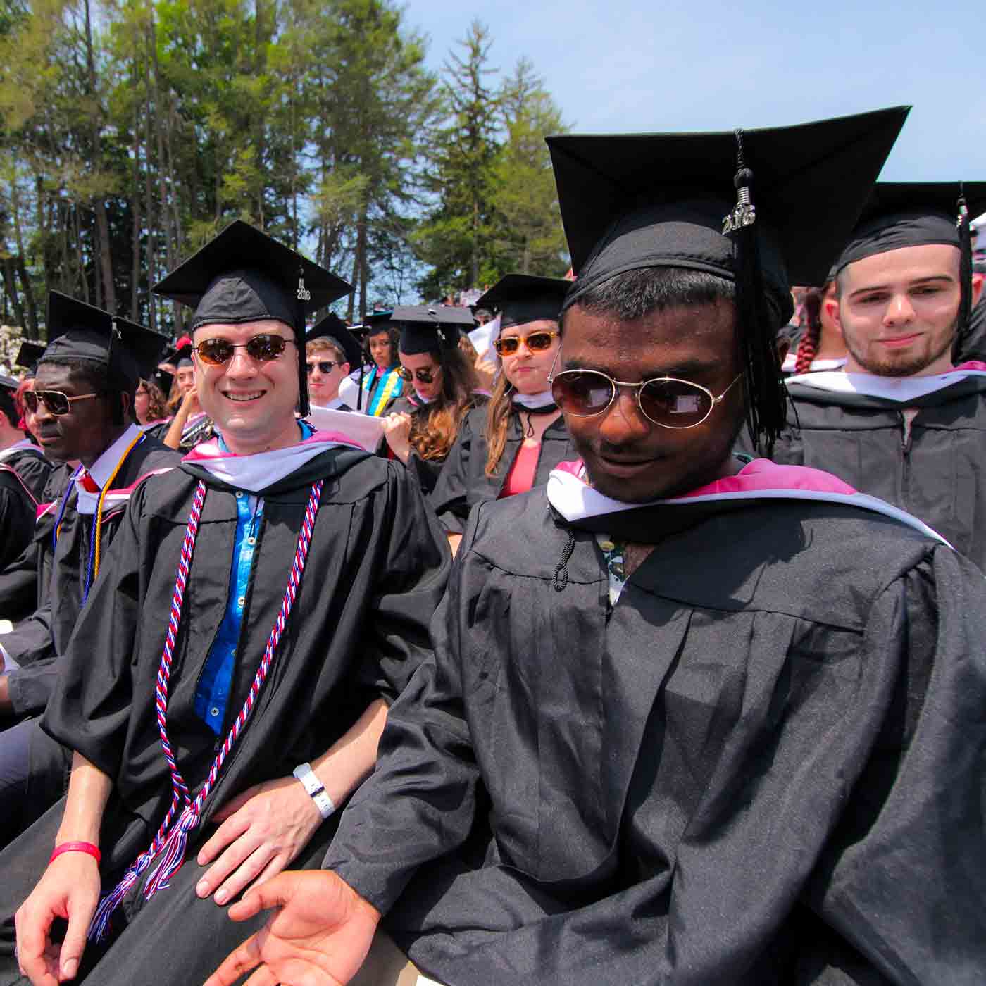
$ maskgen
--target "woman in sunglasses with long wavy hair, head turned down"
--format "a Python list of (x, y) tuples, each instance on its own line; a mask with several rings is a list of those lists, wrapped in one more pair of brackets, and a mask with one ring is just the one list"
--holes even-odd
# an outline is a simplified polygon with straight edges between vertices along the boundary
[[(384, 419), (389, 455), (399, 458), (430, 493), (466, 414), (485, 402), (476, 375), (459, 348), (460, 328), (471, 327), (468, 309), (399, 308), (400, 375), (405, 392)], [(439, 320), (441, 319), (441, 320)]]

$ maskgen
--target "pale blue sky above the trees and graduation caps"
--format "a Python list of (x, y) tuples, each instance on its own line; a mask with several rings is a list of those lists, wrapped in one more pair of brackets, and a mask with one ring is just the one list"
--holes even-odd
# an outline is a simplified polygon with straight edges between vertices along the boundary
[[(866, 3), (866, 0), (863, 0)], [(978, 9), (977, 9), (978, 8)], [(780, 126), (912, 104), (886, 180), (986, 179), (986, 14), (972, 2), (412, 0), (429, 62), (478, 18), (574, 132)]]

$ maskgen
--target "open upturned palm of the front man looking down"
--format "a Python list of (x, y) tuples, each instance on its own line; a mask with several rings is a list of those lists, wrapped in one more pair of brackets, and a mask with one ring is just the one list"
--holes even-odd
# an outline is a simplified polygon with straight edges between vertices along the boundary
[(380, 911), (328, 871), (282, 873), (230, 908), (246, 921), (268, 907), (266, 925), (231, 952), (205, 986), (232, 986), (251, 969), (250, 986), (342, 986), (370, 951)]

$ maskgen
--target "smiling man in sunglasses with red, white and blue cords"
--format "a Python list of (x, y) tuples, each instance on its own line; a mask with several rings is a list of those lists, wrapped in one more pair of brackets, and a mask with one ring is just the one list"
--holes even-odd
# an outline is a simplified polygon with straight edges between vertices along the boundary
[(244, 937), (217, 904), (320, 861), (445, 585), (417, 484), (295, 414), (305, 313), (349, 286), (236, 222), (156, 290), (220, 437), (134, 493), (65, 652), (72, 777), (0, 855), (4, 986), (201, 982)]

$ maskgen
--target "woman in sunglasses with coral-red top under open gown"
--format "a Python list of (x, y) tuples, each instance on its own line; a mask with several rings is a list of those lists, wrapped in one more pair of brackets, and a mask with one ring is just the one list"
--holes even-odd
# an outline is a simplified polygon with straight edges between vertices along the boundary
[(489, 403), (466, 415), (430, 497), (454, 551), (477, 503), (526, 493), (574, 455), (548, 383), (570, 283), (508, 274), (476, 302), (499, 313), (502, 372)]

